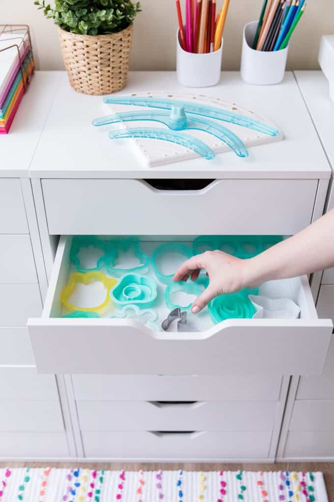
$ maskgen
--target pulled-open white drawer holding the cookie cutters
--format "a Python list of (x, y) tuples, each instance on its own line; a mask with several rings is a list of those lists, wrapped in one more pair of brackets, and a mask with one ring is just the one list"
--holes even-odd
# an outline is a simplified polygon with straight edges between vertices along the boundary
[[(141, 240), (148, 255), (160, 243), (156, 237)], [(71, 241), (72, 237), (60, 238), (42, 317), (28, 322), (38, 372), (321, 373), (332, 322), (317, 318), (306, 277), (272, 281), (259, 290), (270, 298), (292, 299), (300, 307), (298, 319), (228, 319), (214, 325), (203, 313), (199, 331), (180, 333), (155, 331), (127, 318), (62, 318), (60, 295), (73, 272)], [(171, 267), (176, 270), (176, 263)], [(151, 268), (148, 275), (154, 277)], [(160, 300), (165, 287), (158, 283)], [(160, 322), (168, 314), (161, 305)]]

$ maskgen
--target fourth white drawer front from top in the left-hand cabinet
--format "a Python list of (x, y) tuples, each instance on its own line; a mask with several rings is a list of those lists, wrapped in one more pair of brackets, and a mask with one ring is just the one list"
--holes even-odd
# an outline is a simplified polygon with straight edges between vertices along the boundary
[(0, 327), (0, 366), (34, 365), (27, 328)]

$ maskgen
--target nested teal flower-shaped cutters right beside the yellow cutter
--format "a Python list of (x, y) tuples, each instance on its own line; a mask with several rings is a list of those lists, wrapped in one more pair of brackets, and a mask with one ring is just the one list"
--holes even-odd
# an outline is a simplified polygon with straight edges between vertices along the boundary
[(146, 309), (152, 307), (157, 294), (156, 281), (151, 277), (139, 274), (123, 276), (110, 292), (111, 299), (119, 307), (133, 304)]

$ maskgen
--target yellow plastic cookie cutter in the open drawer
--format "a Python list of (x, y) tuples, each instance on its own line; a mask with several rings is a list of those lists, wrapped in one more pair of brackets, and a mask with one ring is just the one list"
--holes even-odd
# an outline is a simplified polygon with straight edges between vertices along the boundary
[[(88, 284), (92, 284), (94, 282), (101, 282), (107, 290), (106, 299), (103, 303), (94, 307), (78, 307), (68, 302), (68, 298), (70, 298), (70, 296), (74, 293), (77, 283), (85, 284), (85, 286), (87, 286)], [(115, 286), (115, 284), (117, 284), (117, 279), (114, 279), (113, 277), (107, 277), (102, 274), (102, 272), (75, 272), (74, 274), (71, 274), (68, 285), (63, 289), (60, 295), (60, 301), (70, 312), (74, 310), (81, 310), (83, 312), (90, 312), (92, 310), (94, 310), (95, 312), (101, 310), (103, 311), (111, 302), (109, 292), (111, 288)]]

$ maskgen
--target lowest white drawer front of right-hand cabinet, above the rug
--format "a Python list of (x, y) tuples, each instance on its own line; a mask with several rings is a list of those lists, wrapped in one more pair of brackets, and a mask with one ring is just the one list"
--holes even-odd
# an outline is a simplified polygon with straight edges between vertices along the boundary
[(284, 450), (287, 458), (334, 458), (334, 434), (321, 431), (292, 431), (287, 436)]

